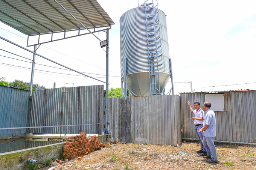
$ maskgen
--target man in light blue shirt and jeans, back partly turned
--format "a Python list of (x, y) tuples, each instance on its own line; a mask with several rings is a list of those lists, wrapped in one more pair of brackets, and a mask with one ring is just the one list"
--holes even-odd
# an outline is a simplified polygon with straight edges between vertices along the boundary
[(218, 163), (216, 147), (213, 141), (213, 137), (216, 136), (216, 118), (211, 106), (212, 104), (210, 102), (204, 102), (204, 110), (206, 110), (204, 124), (203, 128), (198, 132), (203, 132), (204, 135), (203, 144), (207, 151), (207, 156), (204, 156), (204, 158), (210, 158), (206, 159), (206, 162)]

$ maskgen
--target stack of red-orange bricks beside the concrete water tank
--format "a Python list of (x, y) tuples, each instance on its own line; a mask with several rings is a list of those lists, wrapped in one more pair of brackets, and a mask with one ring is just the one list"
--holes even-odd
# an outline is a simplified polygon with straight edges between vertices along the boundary
[(86, 132), (81, 132), (80, 135), (69, 137), (66, 145), (63, 146), (63, 158), (74, 159), (77, 156), (85, 155), (103, 147), (104, 144), (100, 143), (100, 140), (96, 136), (86, 138)]

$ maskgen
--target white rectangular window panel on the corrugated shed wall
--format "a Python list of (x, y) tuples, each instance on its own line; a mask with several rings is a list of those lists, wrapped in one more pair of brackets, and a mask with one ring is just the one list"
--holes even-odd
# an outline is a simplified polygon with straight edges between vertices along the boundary
[(213, 111), (224, 111), (224, 94), (206, 94), (205, 101), (212, 104)]

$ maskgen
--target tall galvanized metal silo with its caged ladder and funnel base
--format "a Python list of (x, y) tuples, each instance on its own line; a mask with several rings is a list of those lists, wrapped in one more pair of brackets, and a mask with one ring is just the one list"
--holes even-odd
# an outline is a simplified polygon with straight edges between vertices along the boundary
[(137, 96), (160, 95), (171, 78), (166, 15), (155, 6), (144, 3), (120, 18), (121, 79)]

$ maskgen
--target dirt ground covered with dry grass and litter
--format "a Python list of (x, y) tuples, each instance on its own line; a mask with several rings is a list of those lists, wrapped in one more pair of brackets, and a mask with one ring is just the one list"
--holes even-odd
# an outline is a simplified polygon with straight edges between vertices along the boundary
[(195, 152), (201, 149), (198, 144), (183, 143), (180, 147), (116, 144), (54, 170), (256, 170), (256, 147), (222, 144), (216, 146), (218, 163), (208, 163)]

